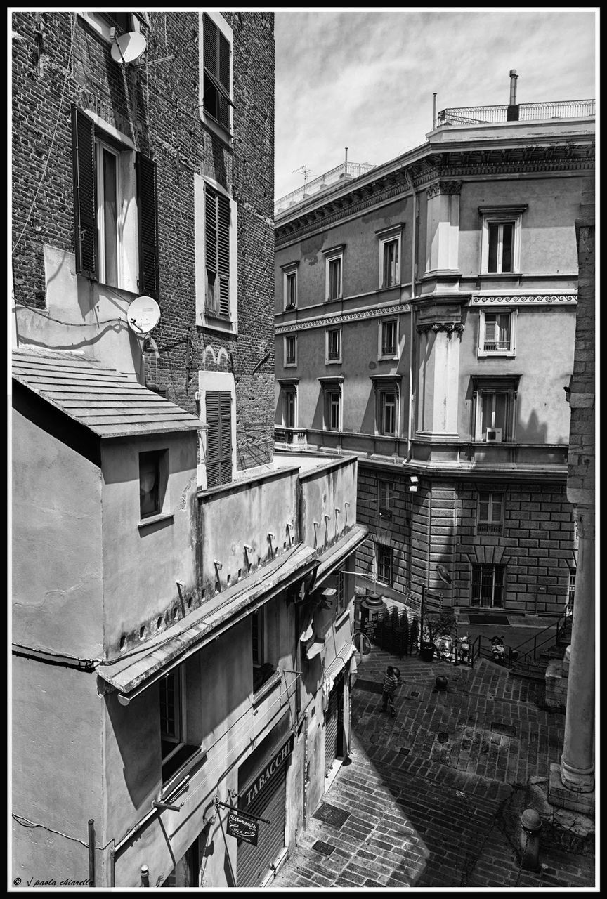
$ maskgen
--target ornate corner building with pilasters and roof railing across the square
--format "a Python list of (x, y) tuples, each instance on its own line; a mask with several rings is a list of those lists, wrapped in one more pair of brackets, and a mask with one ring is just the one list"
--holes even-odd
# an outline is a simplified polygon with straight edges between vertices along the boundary
[[(360, 571), (398, 599), (558, 616), (594, 101), (447, 109), (276, 209), (276, 440), (355, 452)], [(451, 578), (440, 579), (437, 566)], [(368, 582), (366, 582), (368, 583)]]

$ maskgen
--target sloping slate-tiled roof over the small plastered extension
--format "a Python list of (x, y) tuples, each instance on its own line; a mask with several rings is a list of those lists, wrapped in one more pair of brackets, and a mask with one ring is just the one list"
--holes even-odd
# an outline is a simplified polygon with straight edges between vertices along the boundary
[(101, 362), (60, 350), (13, 350), (13, 378), (99, 437), (193, 431), (201, 421)]

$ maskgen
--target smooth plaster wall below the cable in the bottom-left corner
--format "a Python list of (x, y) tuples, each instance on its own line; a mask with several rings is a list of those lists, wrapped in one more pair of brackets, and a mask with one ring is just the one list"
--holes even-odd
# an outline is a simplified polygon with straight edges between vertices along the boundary
[[(105, 845), (103, 705), (94, 673), (13, 657), (13, 877), (88, 877), (88, 820)], [(67, 834), (74, 839), (51, 831)], [(77, 840), (82, 841), (82, 845)], [(102, 867), (95, 853), (95, 868)]]

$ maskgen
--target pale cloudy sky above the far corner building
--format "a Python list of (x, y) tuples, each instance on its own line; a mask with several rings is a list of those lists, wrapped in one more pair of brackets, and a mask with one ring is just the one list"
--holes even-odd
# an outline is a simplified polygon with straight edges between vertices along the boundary
[(597, 7), (407, 7), (274, 13), (274, 197), (348, 161), (379, 165), (424, 143), (437, 111), (596, 97)]

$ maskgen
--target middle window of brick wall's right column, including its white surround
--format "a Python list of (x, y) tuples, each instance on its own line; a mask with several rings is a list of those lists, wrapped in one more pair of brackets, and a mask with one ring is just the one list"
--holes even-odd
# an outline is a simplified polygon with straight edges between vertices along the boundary
[(194, 174), (196, 323), (236, 334), (237, 203), (218, 182)]

